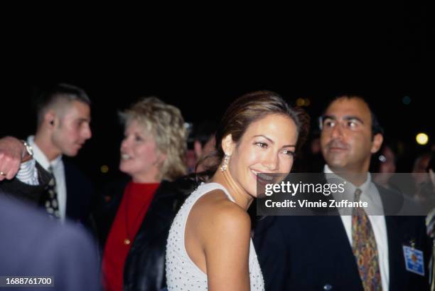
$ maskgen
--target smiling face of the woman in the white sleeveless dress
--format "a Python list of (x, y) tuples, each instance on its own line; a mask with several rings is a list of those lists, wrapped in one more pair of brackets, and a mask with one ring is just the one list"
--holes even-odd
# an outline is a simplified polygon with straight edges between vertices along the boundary
[(256, 197), (257, 174), (289, 173), (297, 138), (294, 121), (285, 115), (270, 114), (252, 122), (239, 143), (233, 143), (227, 149), (231, 154), (229, 170), (232, 178)]

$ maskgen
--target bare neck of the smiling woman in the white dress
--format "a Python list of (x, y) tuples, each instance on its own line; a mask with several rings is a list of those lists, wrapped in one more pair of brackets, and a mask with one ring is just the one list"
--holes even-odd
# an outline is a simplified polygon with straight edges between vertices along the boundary
[(210, 181), (224, 186), (235, 200), (235, 203), (245, 210), (249, 208), (254, 200), (254, 197), (249, 195), (247, 191), (232, 178), (230, 169), (228, 168), (226, 171), (220, 171), (220, 169), (218, 169)]

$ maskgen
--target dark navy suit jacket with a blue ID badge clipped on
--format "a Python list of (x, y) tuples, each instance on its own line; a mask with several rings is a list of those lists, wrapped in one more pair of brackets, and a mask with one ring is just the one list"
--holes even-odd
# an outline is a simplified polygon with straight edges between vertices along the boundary
[[(378, 187), (381, 199), (395, 192)], [(399, 199), (396, 199), (400, 200)], [(400, 204), (400, 203), (399, 203)], [(421, 216), (385, 216), (390, 291), (429, 290), (425, 276), (405, 269), (402, 246), (415, 242), (429, 263), (431, 243)], [(257, 222), (254, 245), (266, 290), (363, 291), (358, 265), (340, 216), (268, 216)], [(387, 290), (384, 290), (387, 291)]]

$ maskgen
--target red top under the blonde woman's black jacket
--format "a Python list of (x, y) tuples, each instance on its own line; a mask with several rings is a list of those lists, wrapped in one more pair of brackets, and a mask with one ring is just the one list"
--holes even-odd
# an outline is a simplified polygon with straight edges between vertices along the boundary
[[(158, 183), (127, 184), (104, 248), (102, 274), (105, 290), (122, 291), (125, 259), (158, 187)], [(125, 243), (126, 239), (129, 244)]]

